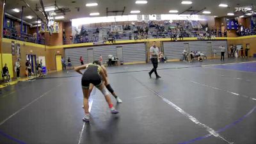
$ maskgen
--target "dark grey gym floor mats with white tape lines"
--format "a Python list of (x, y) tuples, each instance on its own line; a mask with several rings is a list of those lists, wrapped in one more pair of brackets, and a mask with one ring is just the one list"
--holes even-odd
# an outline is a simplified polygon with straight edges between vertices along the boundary
[[(72, 70), (0, 89), (0, 143), (256, 143), (256, 59), (109, 67), (123, 100), (111, 115), (93, 90), (84, 124)], [(227, 64), (232, 63), (232, 64)]]

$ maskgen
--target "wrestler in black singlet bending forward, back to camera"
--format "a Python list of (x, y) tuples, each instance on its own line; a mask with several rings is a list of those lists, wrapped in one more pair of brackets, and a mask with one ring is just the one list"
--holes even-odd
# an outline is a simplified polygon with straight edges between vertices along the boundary
[[(84, 73), (81, 72), (81, 70), (86, 69)], [(103, 84), (106, 83), (108, 84), (108, 79), (106, 79), (106, 76), (104, 74), (104, 71), (102, 67), (99, 65), (95, 65), (92, 63), (86, 64), (86, 65), (81, 65), (79, 67), (75, 68), (76, 72), (79, 74), (83, 75), (81, 79), (81, 84), (83, 88), (83, 95), (84, 95), (84, 117), (83, 121), (84, 122), (89, 122), (90, 120), (90, 113), (89, 113), (89, 104), (88, 104), (88, 99), (89, 99), (89, 86), (90, 84), (93, 84), (96, 86), (100, 92), (105, 96), (106, 101), (108, 102), (109, 109), (111, 110), (112, 114), (117, 114), (119, 113), (113, 106), (113, 103), (111, 102), (110, 98), (110, 93), (108, 92), (106, 86)], [(102, 81), (103, 80), (103, 81)]]

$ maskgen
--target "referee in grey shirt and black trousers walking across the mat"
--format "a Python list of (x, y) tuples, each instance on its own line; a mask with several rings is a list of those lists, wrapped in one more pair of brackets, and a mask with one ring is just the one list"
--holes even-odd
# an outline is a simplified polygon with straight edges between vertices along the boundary
[(153, 42), (153, 45), (152, 45), (152, 47), (150, 47), (149, 52), (150, 52), (150, 60), (151, 60), (151, 62), (152, 62), (152, 64), (153, 64), (152, 70), (151, 70), (150, 72), (148, 72), (149, 77), (151, 78), (151, 74), (152, 74), (153, 72), (155, 72), (156, 78), (157, 78), (157, 79), (158, 79), (158, 78), (161, 78), (161, 77), (157, 74), (157, 71), (156, 71), (157, 65), (158, 65), (158, 60), (157, 60), (157, 58), (158, 58), (159, 53), (160, 53), (158, 47), (156, 47), (156, 42)]

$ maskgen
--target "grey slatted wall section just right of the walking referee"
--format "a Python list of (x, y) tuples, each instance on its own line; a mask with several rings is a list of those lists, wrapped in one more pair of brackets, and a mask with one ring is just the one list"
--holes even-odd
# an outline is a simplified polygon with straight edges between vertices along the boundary
[(164, 42), (164, 56), (168, 60), (181, 59), (185, 43), (188, 42)]

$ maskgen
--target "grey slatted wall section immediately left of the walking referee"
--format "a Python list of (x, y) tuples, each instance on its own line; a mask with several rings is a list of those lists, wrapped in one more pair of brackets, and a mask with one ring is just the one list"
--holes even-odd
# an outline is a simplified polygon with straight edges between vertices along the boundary
[(124, 63), (146, 62), (145, 44), (125, 44), (123, 47)]

